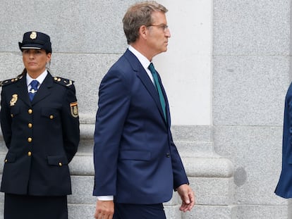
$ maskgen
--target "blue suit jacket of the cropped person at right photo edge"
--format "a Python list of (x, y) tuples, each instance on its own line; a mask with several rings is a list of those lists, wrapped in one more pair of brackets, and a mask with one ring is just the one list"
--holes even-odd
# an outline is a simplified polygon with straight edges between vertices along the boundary
[(286, 199), (292, 197), (292, 84), (285, 99), (282, 170), (275, 193)]

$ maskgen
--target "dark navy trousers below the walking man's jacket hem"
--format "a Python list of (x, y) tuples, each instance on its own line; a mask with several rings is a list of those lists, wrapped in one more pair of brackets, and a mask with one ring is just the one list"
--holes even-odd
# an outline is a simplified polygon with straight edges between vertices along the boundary
[(114, 204), (113, 219), (166, 219), (163, 204)]

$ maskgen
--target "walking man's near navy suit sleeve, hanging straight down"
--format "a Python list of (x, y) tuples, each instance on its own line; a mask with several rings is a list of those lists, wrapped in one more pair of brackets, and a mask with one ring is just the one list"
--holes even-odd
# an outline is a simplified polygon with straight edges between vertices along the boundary
[(118, 147), (129, 103), (125, 78), (118, 70), (110, 70), (99, 86), (94, 137), (95, 196), (116, 195)]

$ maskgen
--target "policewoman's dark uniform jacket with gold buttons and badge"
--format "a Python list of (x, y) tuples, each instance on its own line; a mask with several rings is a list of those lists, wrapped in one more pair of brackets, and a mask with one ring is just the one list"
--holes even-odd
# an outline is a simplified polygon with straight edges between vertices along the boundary
[(80, 139), (71, 80), (48, 73), (32, 102), (26, 75), (0, 83), (0, 121), (8, 148), (1, 192), (35, 196), (71, 194), (68, 163)]

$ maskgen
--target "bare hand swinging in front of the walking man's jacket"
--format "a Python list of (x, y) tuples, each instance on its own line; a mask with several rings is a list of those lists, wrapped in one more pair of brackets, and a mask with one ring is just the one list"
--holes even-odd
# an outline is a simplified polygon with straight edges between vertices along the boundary
[(188, 184), (182, 184), (177, 189), (178, 194), (181, 196), (181, 208), (179, 210), (185, 212), (190, 211), (195, 205), (195, 194)]

